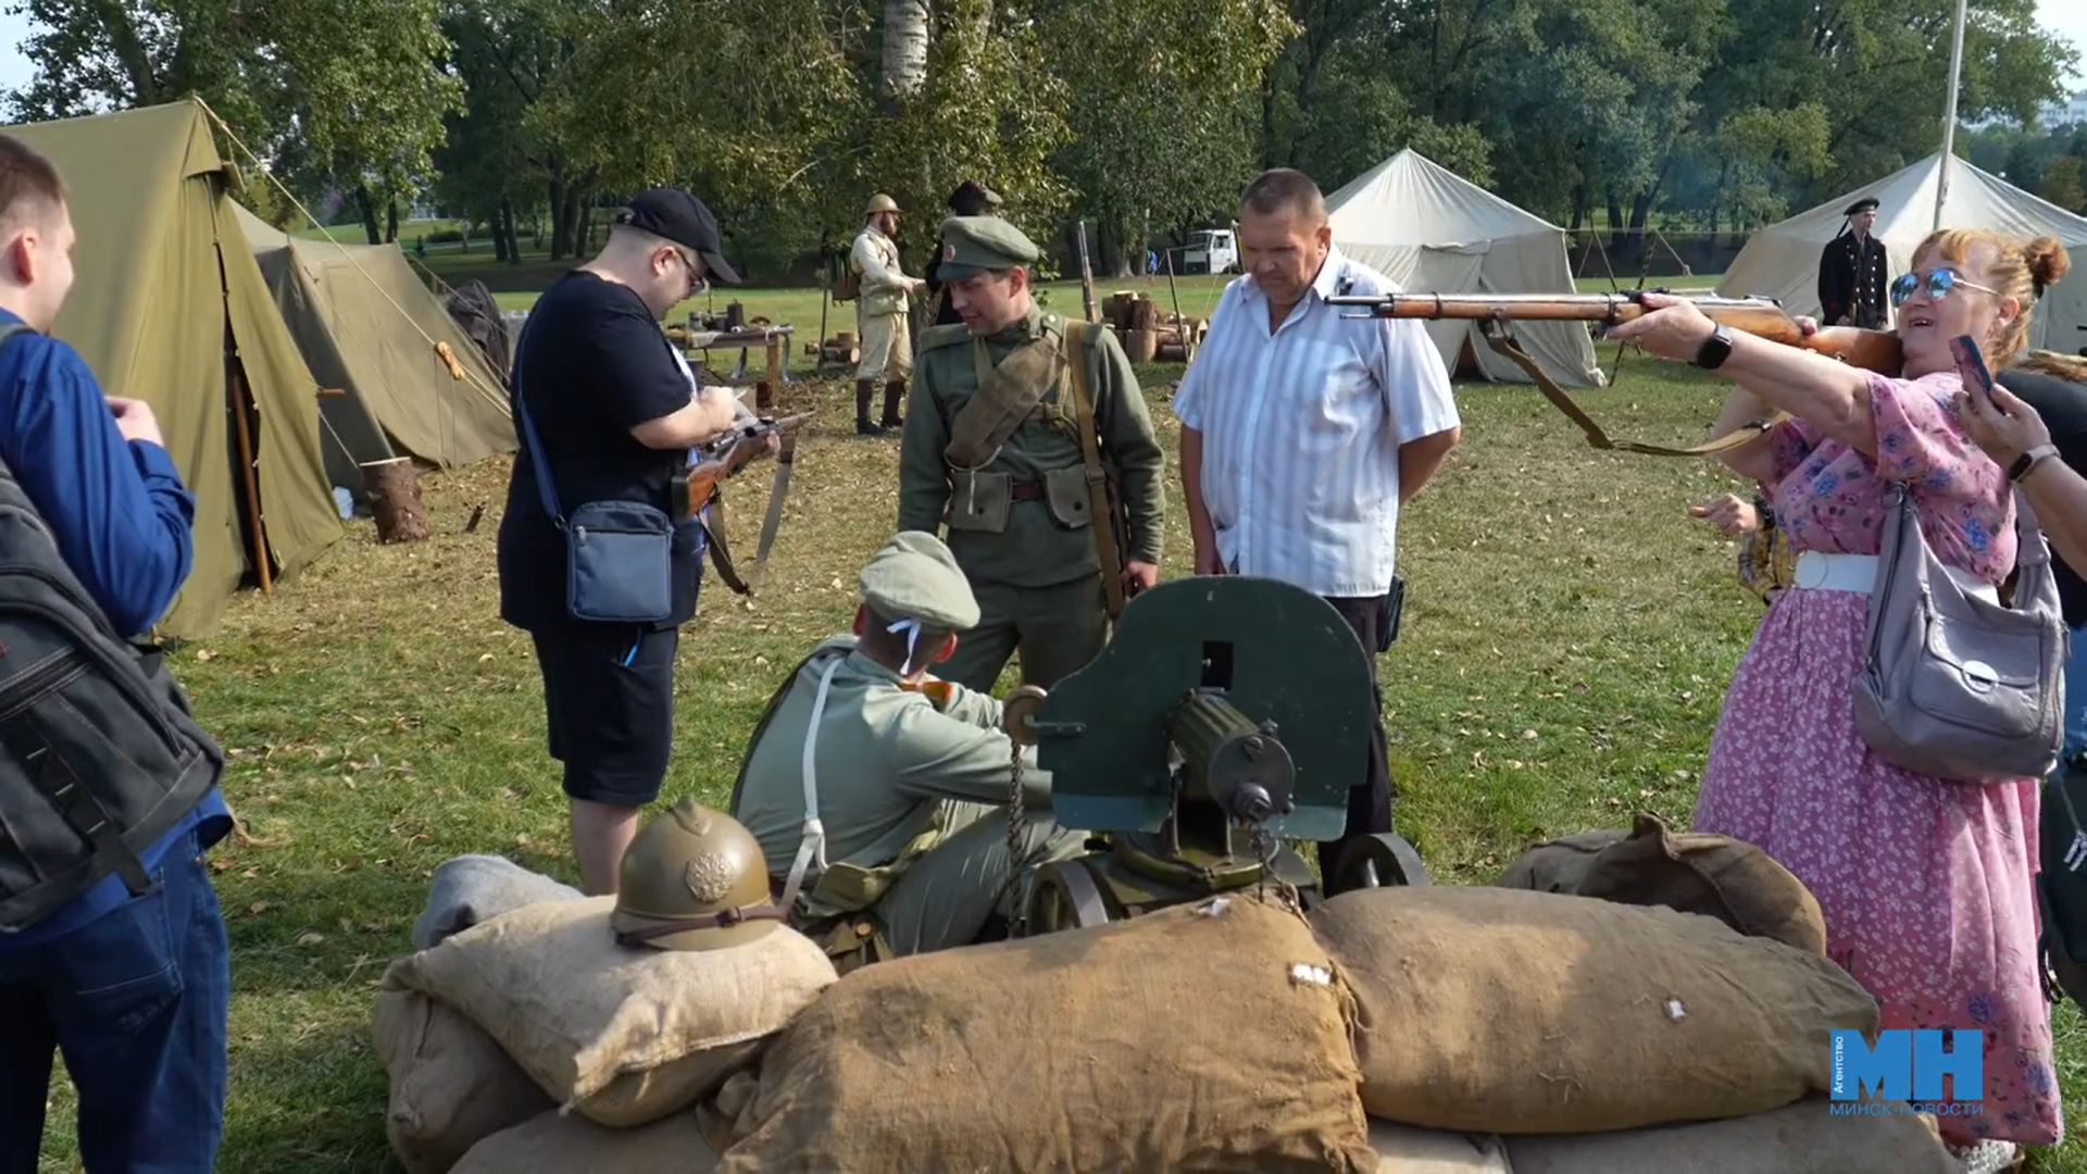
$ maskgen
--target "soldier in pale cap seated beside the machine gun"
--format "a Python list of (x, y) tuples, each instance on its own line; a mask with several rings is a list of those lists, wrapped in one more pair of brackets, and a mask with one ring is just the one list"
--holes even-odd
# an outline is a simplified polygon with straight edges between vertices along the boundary
[(753, 729), (730, 813), (760, 840), (774, 892), (818, 856), (795, 923), (839, 932), (829, 948), (854, 955), (864, 925), (885, 957), (977, 942), (995, 915), (1014, 917), (1016, 877), (1083, 850), (1081, 831), (1052, 821), (1050, 773), (1025, 746), (1008, 859), (1014, 748), (1000, 702), (929, 675), (977, 623), (950, 547), (899, 533), (862, 568), (856, 635), (812, 650)]

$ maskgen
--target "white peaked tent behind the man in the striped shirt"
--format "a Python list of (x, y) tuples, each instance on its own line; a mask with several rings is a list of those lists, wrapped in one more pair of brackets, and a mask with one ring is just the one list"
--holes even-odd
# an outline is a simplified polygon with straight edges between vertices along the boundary
[[(1565, 230), (1425, 159), (1411, 146), (1325, 198), (1334, 244), (1407, 292), (1574, 292)], [(1492, 380), (1528, 382), (1469, 320), (1428, 322), (1457, 370), (1465, 343)], [(1601, 386), (1584, 322), (1517, 322), (1515, 338), (1563, 386)]]

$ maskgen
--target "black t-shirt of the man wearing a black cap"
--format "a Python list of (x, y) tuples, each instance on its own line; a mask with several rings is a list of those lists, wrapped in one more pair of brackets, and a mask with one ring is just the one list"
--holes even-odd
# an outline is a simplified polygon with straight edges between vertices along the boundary
[[(557, 508), (645, 501), (668, 510), (668, 485), (687, 449), (649, 449), (630, 428), (689, 405), (693, 389), (672, 343), (628, 286), (572, 269), (536, 299), (513, 357), (515, 397), (551, 464)], [(515, 414), (515, 464), (501, 518), (501, 618), (522, 629), (574, 623), (566, 610), (566, 537), (543, 510), (536, 460)], [(659, 629), (695, 616), (701, 531), (674, 533), (674, 610)]]

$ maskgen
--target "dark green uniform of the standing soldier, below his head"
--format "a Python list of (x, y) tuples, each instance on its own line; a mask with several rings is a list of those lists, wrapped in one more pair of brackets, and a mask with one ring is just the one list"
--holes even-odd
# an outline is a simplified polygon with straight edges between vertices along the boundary
[[(1029, 309), (985, 336), (995, 368), (1008, 353), (1064, 320)], [(1129, 518), (1129, 558), (1156, 564), (1162, 549), (1165, 453), (1152, 430), (1131, 359), (1114, 334), (1094, 328), (1077, 361), (1087, 368), (1104, 460), (1114, 464)], [(1071, 378), (1044, 401), (987, 464), (952, 470), (950, 422), (979, 386), (973, 336), (964, 326), (920, 334), (914, 384), (899, 445), (899, 529), (947, 526), (983, 618), (966, 631), (947, 679), (987, 691), (1021, 648), (1023, 679), (1050, 687), (1092, 660), (1108, 639), (1100, 556), (1087, 508)], [(973, 476), (977, 474), (977, 476)]]

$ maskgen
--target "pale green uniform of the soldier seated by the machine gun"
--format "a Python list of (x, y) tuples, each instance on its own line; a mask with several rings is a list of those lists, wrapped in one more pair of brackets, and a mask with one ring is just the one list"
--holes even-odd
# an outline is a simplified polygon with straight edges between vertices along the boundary
[[(837, 664), (835, 664), (837, 662)], [(803, 746), (820, 677), (812, 775), (826, 829), (826, 873), (808, 882), (808, 917), (870, 909), (897, 955), (977, 940), (998, 909), (1014, 915), (1006, 804), (1012, 742), (1000, 702), (952, 685), (943, 704), (902, 687), (899, 675), (856, 650), (820, 643), (753, 733), (733, 792), (733, 817), (762, 844), (772, 877), (789, 873), (803, 840)], [(1023, 750), (1027, 827), (1014, 873), (1085, 842), (1050, 815), (1050, 775)]]

